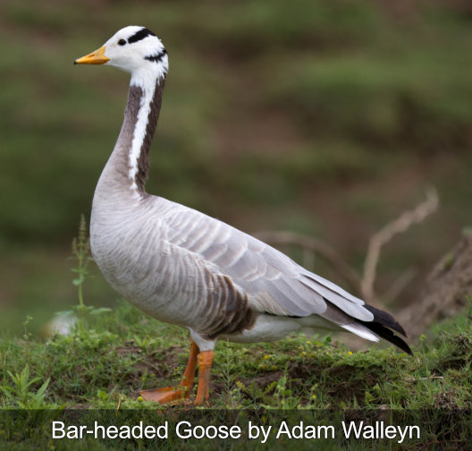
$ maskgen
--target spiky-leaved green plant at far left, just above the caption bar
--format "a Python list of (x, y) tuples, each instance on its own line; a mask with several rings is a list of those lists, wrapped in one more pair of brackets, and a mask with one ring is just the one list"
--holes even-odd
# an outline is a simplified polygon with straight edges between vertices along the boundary
[(30, 391), (30, 387), (41, 378), (30, 379), (30, 367), (28, 363), (21, 370), (21, 373), (13, 374), (11, 371), (7, 371), (8, 376), (12, 379), (13, 387), (2, 386), (0, 390), (4, 393), (4, 396), (15, 406), (21, 409), (40, 409), (46, 407), (45, 396), (46, 389), (49, 385), (49, 378), (43, 383), (38, 391)]

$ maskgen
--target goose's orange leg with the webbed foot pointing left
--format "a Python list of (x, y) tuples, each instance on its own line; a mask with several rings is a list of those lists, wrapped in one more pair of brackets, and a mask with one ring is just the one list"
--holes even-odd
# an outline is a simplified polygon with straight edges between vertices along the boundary
[(159, 404), (171, 403), (182, 399), (188, 399), (190, 388), (193, 386), (195, 370), (197, 368), (197, 356), (200, 350), (198, 345), (190, 339), (190, 355), (187, 368), (183, 373), (183, 378), (178, 387), (163, 387), (155, 390), (143, 390), (139, 393), (146, 401), (156, 401)]

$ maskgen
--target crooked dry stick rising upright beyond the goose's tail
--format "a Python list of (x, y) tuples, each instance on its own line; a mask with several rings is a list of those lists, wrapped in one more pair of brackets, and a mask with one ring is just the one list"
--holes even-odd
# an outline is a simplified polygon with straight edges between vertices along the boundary
[(384, 228), (370, 238), (367, 257), (364, 263), (364, 276), (360, 283), (362, 296), (367, 302), (378, 304), (375, 301), (374, 283), (382, 246), (392, 240), (394, 235), (408, 230), (410, 225), (422, 222), (426, 217), (434, 213), (437, 207), (437, 192), (434, 187), (431, 187), (426, 191), (426, 200), (424, 202), (421, 202), (412, 210), (405, 211), (398, 219), (385, 225)]

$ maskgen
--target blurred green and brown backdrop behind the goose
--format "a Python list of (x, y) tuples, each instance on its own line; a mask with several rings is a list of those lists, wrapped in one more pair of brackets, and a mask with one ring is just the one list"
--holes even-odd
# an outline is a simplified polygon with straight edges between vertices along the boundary
[[(380, 262), (379, 292), (415, 268), (403, 303), (472, 225), (467, 0), (2, 0), (2, 330), (77, 303), (67, 257), (129, 76), (72, 62), (130, 24), (170, 58), (147, 191), (249, 233), (316, 236), (360, 270), (369, 236), (434, 184), (439, 212)], [(86, 303), (114, 305), (94, 273)]]

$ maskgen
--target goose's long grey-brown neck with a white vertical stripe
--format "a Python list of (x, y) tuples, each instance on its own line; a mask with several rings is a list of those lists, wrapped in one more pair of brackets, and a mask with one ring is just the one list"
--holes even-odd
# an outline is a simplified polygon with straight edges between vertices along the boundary
[(146, 196), (149, 149), (156, 131), (163, 90), (164, 78), (147, 86), (131, 83), (122, 130), (97, 184), (101, 195)]

